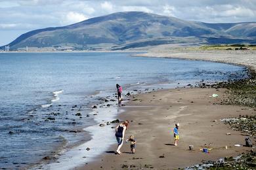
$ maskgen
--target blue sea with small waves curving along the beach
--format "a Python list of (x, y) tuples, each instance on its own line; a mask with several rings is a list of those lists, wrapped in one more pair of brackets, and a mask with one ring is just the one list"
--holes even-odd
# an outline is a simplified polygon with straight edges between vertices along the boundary
[(100, 140), (93, 133), (103, 118), (91, 107), (114, 101), (117, 83), (127, 93), (247, 78), (246, 69), (235, 65), (131, 55), (0, 53), (0, 168), (30, 167)]

